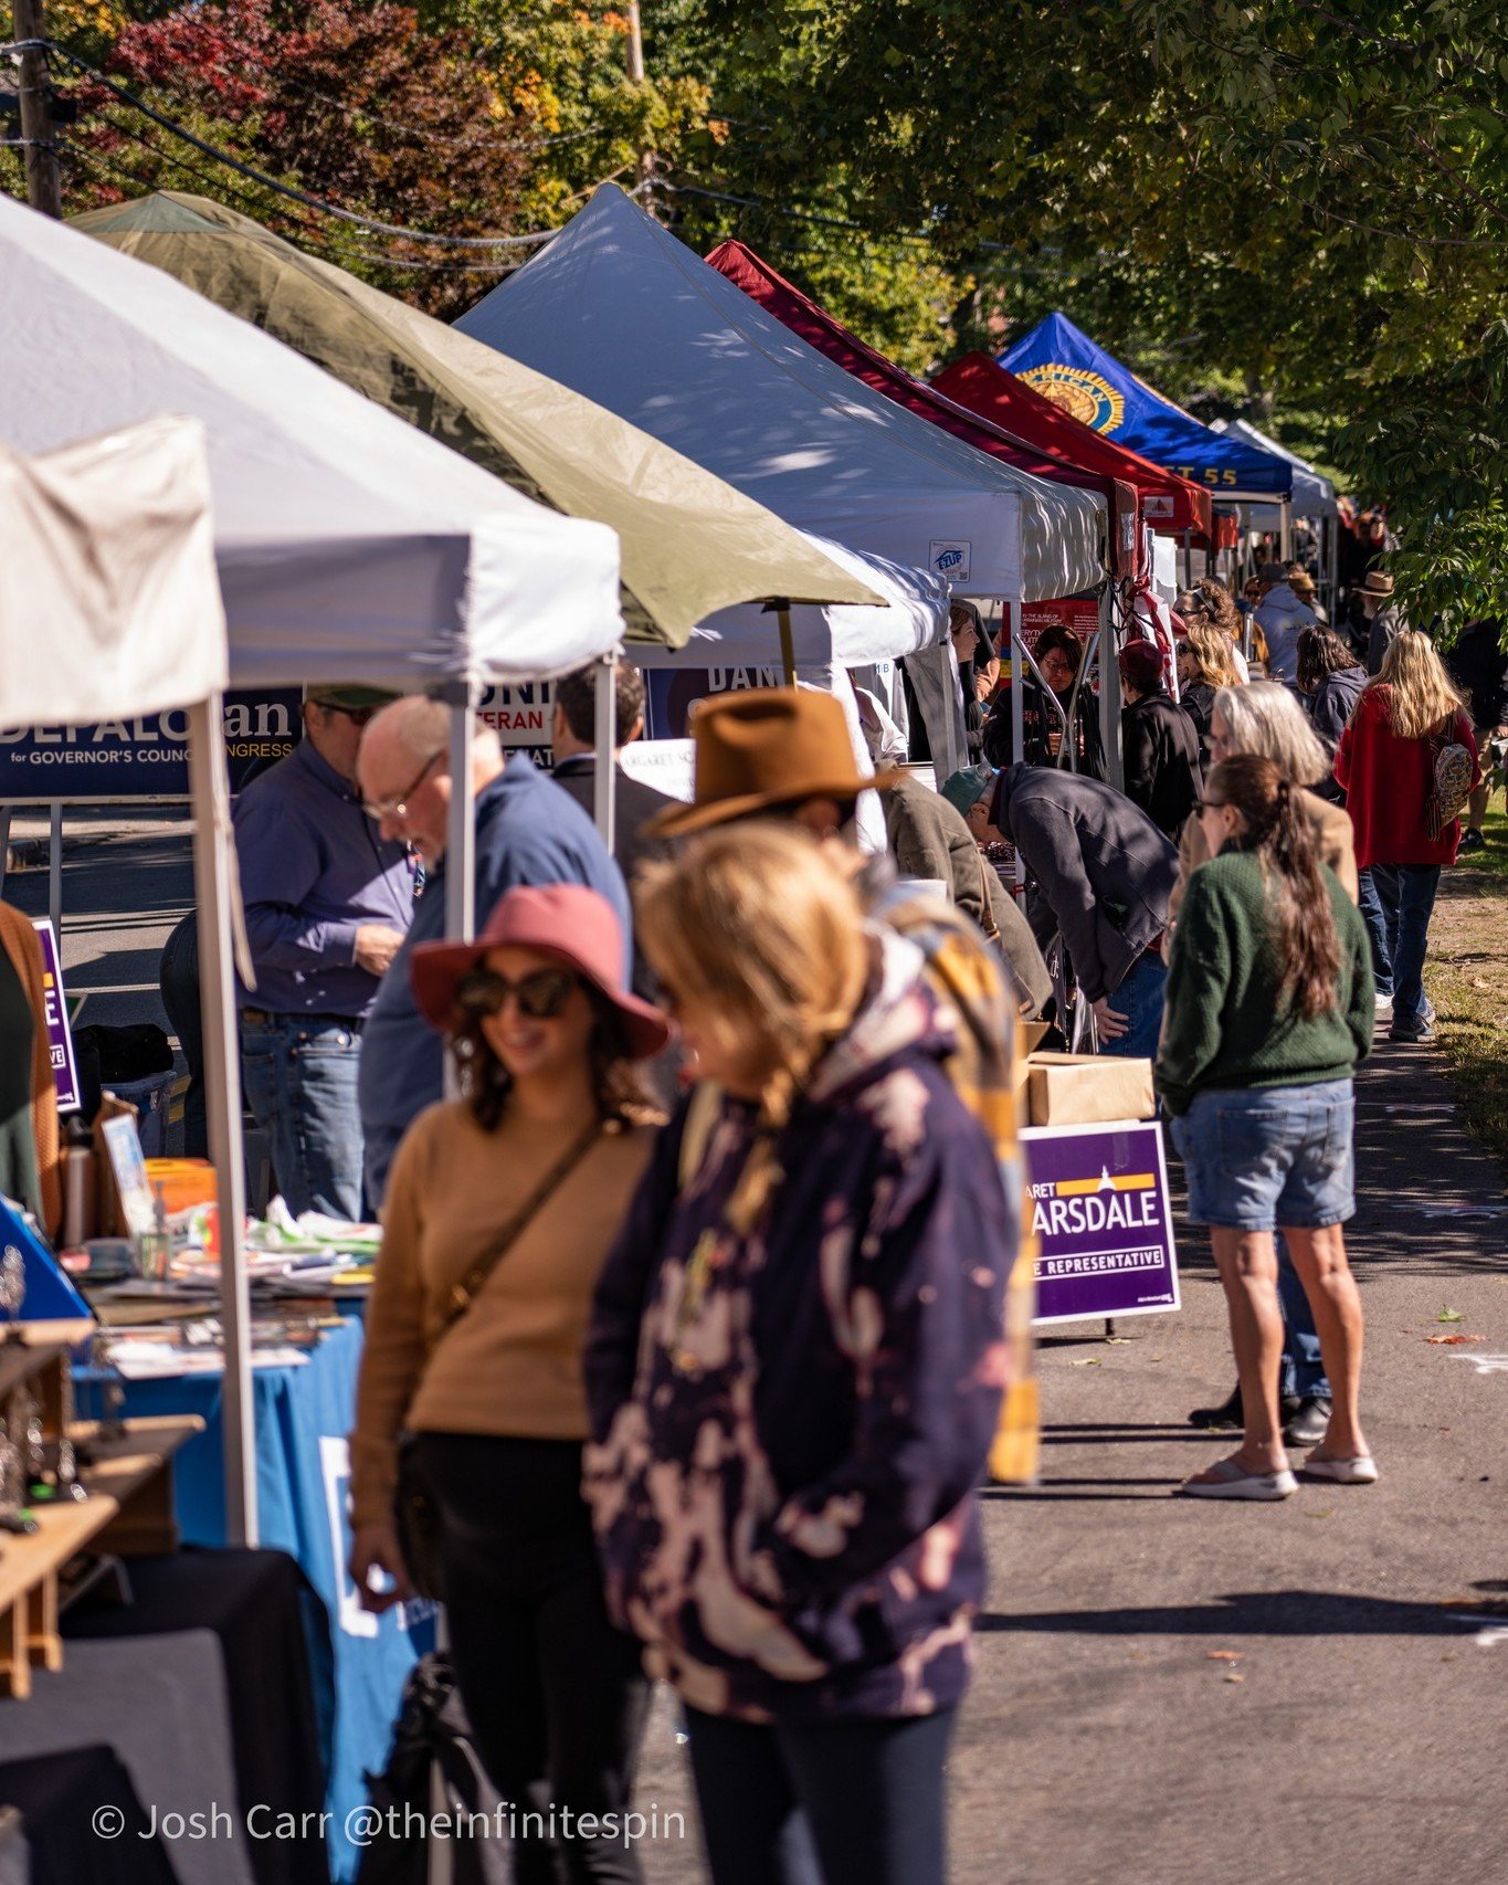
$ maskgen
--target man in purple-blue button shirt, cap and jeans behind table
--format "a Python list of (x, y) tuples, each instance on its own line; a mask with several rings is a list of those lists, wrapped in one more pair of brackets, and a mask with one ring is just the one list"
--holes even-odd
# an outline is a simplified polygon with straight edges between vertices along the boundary
[(413, 914), (407, 848), (379, 835), (354, 784), (362, 728), (390, 699), (305, 688), (303, 739), (236, 801), (256, 969), (239, 990), (241, 1082), (294, 1216), (364, 1216), (362, 1027)]

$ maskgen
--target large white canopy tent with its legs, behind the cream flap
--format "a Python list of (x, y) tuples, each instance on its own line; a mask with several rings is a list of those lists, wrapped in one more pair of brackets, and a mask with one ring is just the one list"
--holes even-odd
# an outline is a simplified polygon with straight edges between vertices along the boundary
[[(618, 545), (607, 526), (532, 503), (172, 277), (4, 196), (0, 358), (0, 443), (25, 452), (164, 411), (202, 422), (232, 686), (428, 686), (452, 703), (451, 769), (469, 779), (481, 686), (566, 673), (611, 656), (622, 637)], [(40, 620), (49, 611), (28, 618), (32, 660)], [(219, 739), (207, 709), (205, 724)], [(196, 799), (207, 805), (219, 762), (211, 769), (204, 739), (192, 754)], [(456, 792), (452, 935), (473, 929), (471, 839), (471, 795)], [(217, 846), (228, 880), (228, 818), (217, 811), (198, 843)], [(202, 939), (207, 980), (228, 961), (205, 958), (205, 946), (228, 939), (228, 920), (226, 905), (215, 935)], [(205, 1048), (211, 1093), (238, 1095), (234, 1001), (205, 1029)], [(211, 1114), (211, 1152), (228, 1531), (254, 1542), (238, 1105), (221, 1131)]]

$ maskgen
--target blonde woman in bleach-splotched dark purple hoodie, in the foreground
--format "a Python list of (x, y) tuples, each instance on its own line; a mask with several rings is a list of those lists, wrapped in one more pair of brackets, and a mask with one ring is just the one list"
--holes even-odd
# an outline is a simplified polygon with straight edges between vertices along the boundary
[(598, 1287), (609, 1604), (686, 1708), (714, 1885), (941, 1885), (1016, 1212), (920, 952), (803, 831), (641, 875), (703, 1086)]

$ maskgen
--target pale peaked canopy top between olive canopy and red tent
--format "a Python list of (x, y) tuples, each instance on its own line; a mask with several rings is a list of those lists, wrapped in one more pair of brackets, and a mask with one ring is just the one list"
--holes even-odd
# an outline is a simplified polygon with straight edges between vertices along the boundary
[(1103, 577), (1105, 501), (1044, 484), (844, 373), (615, 185), (456, 326), (788, 522), (1037, 601)]

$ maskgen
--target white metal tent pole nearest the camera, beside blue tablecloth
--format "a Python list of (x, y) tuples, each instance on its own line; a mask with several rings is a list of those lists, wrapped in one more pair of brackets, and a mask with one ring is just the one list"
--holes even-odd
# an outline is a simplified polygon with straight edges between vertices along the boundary
[(245, 1152), (241, 1148), (241, 1042), (236, 1018), (232, 884), (236, 850), (224, 777), (224, 713), (211, 694), (188, 709), (188, 790), (194, 801), (194, 897), (200, 912), (200, 1020), (209, 1101), (209, 1156), (221, 1237), (224, 1331), (226, 1538), (254, 1546), (256, 1421), (251, 1397), (251, 1291), (245, 1257)]

